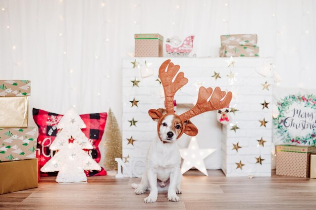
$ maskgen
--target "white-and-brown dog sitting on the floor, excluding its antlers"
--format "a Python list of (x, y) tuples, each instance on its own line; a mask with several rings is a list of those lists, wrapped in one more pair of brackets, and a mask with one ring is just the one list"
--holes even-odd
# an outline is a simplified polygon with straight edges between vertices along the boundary
[[(155, 116), (155, 113), (150, 113), (149, 110), (149, 115), (154, 121), (159, 121), (160, 117), (166, 114), (165, 109), (157, 109), (157, 111), (161, 113), (160, 116)], [(187, 123), (190, 122), (185, 122)], [(144, 202), (150, 203), (157, 200), (158, 189), (167, 187), (166, 184), (169, 183), (168, 200), (177, 202), (180, 200), (177, 194), (182, 193), (182, 173), (180, 171), (181, 156), (176, 141), (185, 128), (182, 127), (179, 116), (173, 114), (160, 120), (158, 127), (159, 136), (152, 141), (147, 152), (145, 173), (141, 182), (132, 184), (132, 187), (135, 188), (136, 194), (142, 194), (150, 189), (148, 197), (144, 199)], [(159, 182), (158, 186), (157, 182)]]

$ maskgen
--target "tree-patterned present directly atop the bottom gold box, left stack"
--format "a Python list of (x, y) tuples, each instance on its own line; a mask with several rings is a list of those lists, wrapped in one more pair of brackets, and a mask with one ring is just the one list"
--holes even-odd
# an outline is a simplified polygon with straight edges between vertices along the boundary
[(0, 162), (35, 158), (37, 136), (35, 127), (0, 128)]

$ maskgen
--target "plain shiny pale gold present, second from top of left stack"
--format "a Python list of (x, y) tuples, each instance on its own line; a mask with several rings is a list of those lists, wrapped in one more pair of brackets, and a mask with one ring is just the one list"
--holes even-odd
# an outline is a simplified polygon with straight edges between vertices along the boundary
[(20, 128), (27, 125), (27, 97), (0, 97), (0, 127)]

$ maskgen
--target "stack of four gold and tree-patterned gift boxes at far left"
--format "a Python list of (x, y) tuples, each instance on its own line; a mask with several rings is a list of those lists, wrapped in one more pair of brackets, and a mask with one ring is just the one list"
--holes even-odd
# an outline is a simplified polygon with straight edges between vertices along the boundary
[(0, 194), (37, 187), (38, 130), (28, 127), (30, 85), (0, 80)]

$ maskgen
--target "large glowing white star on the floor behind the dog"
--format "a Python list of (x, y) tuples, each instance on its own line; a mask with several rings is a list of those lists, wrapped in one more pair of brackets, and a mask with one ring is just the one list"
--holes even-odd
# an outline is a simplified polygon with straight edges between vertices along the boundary
[(208, 176), (204, 159), (215, 151), (216, 149), (199, 149), (196, 138), (192, 137), (188, 148), (180, 149), (181, 158), (183, 159), (181, 173), (183, 174), (195, 167), (197, 170)]

